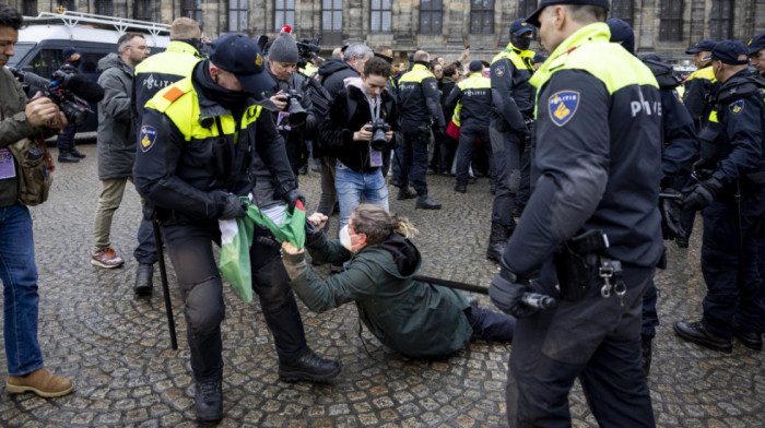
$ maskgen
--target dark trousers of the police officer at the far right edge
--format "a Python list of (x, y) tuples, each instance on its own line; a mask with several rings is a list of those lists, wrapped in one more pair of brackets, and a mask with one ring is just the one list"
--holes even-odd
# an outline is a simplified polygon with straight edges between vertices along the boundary
[(765, 214), (765, 188), (742, 189), (741, 261), (732, 191), (721, 193), (704, 210), (702, 273), (707, 295), (702, 322), (711, 333), (722, 337), (732, 337), (735, 325), (745, 331), (765, 333), (763, 278), (757, 271), (757, 229)]

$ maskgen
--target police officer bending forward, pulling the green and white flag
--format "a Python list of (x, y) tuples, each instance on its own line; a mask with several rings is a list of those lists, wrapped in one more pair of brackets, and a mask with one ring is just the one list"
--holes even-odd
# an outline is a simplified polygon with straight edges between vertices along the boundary
[[(178, 276), (201, 421), (219, 420), (223, 414), (224, 305), (210, 246), (220, 242), (217, 221), (245, 215), (240, 195), (251, 191), (256, 201), (262, 195), (252, 188), (254, 169), (268, 168), (271, 194), (291, 209), (303, 198), (271, 115), (252, 98), (275, 84), (264, 72), (257, 44), (228, 34), (211, 47), (210, 59), (199, 62), (189, 79), (146, 104), (134, 167), (139, 192), (157, 209)], [(266, 181), (261, 178), (258, 182)], [(268, 239), (260, 235), (254, 240)], [(306, 345), (279, 246), (254, 245), (250, 259), (254, 287), (279, 354), (279, 376), (287, 381), (334, 378), (340, 366)]]

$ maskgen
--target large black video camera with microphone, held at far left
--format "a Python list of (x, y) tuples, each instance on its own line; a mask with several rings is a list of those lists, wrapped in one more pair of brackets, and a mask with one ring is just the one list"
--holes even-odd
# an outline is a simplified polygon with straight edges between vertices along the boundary
[[(19, 79), (24, 91), (30, 93), (30, 87), (39, 90), (43, 96), (50, 98), (67, 117), (69, 123), (81, 126), (85, 122), (87, 112), (92, 110), (87, 107), (87, 102), (97, 103), (104, 98), (104, 88), (90, 79), (79, 74), (67, 74), (57, 70), (50, 81), (30, 72), (10, 69)], [(83, 99), (80, 96), (87, 99)]]

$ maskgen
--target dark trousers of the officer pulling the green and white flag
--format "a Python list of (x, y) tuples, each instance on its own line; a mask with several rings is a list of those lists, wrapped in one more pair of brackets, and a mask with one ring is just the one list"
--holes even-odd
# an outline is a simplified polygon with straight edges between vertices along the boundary
[[(220, 243), (221, 239), (217, 221), (172, 219), (163, 222), (162, 229), (184, 301), (193, 377), (201, 382), (221, 379), (221, 322), (225, 306), (212, 250), (212, 242)], [(307, 350), (303, 321), (279, 257), (279, 246), (260, 243), (256, 235), (250, 261), (252, 286), (280, 360), (290, 362), (299, 358)]]

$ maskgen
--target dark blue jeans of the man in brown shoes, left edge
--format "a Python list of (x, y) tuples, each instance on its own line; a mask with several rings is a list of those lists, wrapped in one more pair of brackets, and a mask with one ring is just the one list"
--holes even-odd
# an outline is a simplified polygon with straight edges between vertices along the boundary
[(43, 367), (37, 342), (39, 295), (30, 210), (17, 204), (0, 209), (0, 236), (8, 373), (24, 376)]

